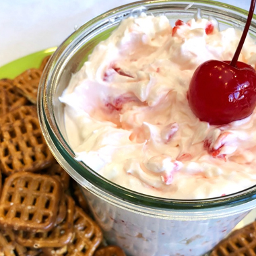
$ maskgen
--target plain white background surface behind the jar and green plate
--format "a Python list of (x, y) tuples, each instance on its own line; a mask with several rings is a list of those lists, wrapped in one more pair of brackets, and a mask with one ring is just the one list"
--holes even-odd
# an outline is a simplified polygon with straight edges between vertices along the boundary
[[(249, 9), (250, 0), (219, 0)], [(0, 0), (0, 67), (58, 46), (75, 26), (131, 0)]]

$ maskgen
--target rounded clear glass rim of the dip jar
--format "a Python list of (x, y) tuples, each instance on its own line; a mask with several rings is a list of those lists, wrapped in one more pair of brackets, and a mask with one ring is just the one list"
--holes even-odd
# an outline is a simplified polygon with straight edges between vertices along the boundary
[[(256, 199), (256, 185), (243, 191), (226, 195), (224, 197), (197, 200), (166, 199), (161, 197), (144, 195), (135, 191), (131, 191), (129, 189), (125, 189), (124, 187), (116, 185), (115, 183), (108, 181), (104, 177), (101, 177), (98, 173), (94, 172), (94, 170), (86, 166), (86, 164), (82, 162), (77, 162), (73, 158), (74, 154), (69, 148), (68, 143), (61, 135), (61, 131), (57, 126), (57, 121), (53, 113), (53, 98), (51, 98), (51, 96), (49, 97), (49, 92), (55, 92), (55, 90), (52, 88), (53, 84), (51, 82), (54, 80), (54, 76), (58, 76), (56, 72), (56, 70), (58, 69), (57, 64), (59, 65), (60, 61), (62, 61), (63, 63), (65, 62), (64, 59), (60, 60), (59, 57), (63, 56), (64, 52), (67, 52), (66, 50), (71, 47), (71, 44), (75, 42), (75, 39), (79, 38), (79, 36), (83, 36), (83, 34), (85, 34), (87, 30), (89, 30), (90, 26), (93, 26), (98, 22), (102, 22), (102, 20), (107, 20), (110, 15), (117, 15), (119, 13), (123, 13), (124, 11), (131, 11), (132, 9), (135, 9), (140, 5), (148, 8), (150, 6), (154, 7), (160, 4), (163, 7), (163, 5), (175, 3), (184, 5), (189, 5), (189, 3), (203, 4), (206, 7), (219, 7), (228, 11), (234, 11), (236, 13), (239, 13), (240, 15), (247, 15), (248, 13), (247, 11), (238, 7), (216, 1), (154, 0), (139, 1), (128, 5), (123, 5), (121, 7), (117, 7), (110, 11), (107, 11), (106, 13), (103, 13), (102, 15), (99, 15), (98, 17), (90, 20), (89, 22), (81, 26), (78, 30), (73, 32), (73, 34), (71, 34), (71, 36), (69, 36), (69, 38), (67, 38), (67, 40), (65, 40), (63, 44), (58, 47), (57, 51), (51, 58), (49, 65), (44, 71), (38, 90), (38, 116), (42, 132), (44, 133), (44, 137), (46, 138), (47, 143), (49, 144), (49, 148), (51, 149), (57, 160), (60, 162), (60, 164), (63, 166), (63, 168), (67, 170), (67, 166), (69, 166), (69, 168), (73, 169), (73, 171), (67, 171), (78, 183), (82, 183), (81, 179), (86, 179), (86, 181), (88, 181), (94, 187), (94, 189), (98, 191), (98, 193), (100, 193), (100, 191), (104, 191), (106, 194), (110, 194), (113, 197), (117, 197), (118, 199), (127, 201), (135, 205), (137, 204), (145, 207), (172, 210), (212, 209), (213, 207), (233, 207), (236, 205), (247, 203)], [(255, 18), (256, 16), (254, 15), (253, 24), (256, 28)], [(65, 164), (63, 164), (63, 162), (65, 162)]]

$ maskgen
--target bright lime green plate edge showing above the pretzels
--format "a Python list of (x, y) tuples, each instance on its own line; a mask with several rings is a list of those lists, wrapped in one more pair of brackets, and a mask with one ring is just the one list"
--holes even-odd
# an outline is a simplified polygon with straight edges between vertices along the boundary
[(0, 79), (9, 78), (13, 79), (20, 73), (24, 72), (27, 69), (38, 68), (42, 63), (44, 57), (52, 55), (56, 51), (57, 47), (52, 47), (30, 55), (26, 55), (15, 61), (11, 61), (0, 67)]

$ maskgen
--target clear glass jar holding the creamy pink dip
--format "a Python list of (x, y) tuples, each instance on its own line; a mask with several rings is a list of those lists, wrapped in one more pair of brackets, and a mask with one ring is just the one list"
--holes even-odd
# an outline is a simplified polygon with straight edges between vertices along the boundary
[[(119, 22), (141, 11), (164, 14), (173, 25), (191, 20), (197, 9), (214, 16), (220, 29), (242, 27), (247, 11), (214, 1), (140, 1), (110, 10), (75, 31), (47, 65), (38, 92), (42, 132), (59, 164), (81, 185), (106, 241), (129, 256), (199, 256), (207, 253), (256, 205), (256, 187), (224, 197), (201, 200), (164, 199), (116, 185), (77, 162), (65, 132), (64, 106), (59, 96), (87, 60), (94, 46), (107, 38)], [(251, 36), (256, 35), (255, 17)]]

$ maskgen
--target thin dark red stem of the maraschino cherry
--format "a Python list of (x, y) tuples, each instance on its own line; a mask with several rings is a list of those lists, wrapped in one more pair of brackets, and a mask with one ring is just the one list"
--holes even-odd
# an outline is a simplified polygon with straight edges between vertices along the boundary
[(234, 53), (234, 57), (233, 57), (232, 61), (230, 62), (230, 65), (232, 67), (236, 67), (238, 57), (239, 57), (239, 55), (241, 53), (241, 50), (243, 48), (245, 38), (247, 36), (247, 33), (248, 33), (250, 25), (251, 25), (251, 20), (253, 19), (253, 12), (254, 12), (254, 9), (255, 9), (255, 3), (256, 3), (256, 0), (251, 0), (251, 6), (250, 6), (250, 10), (249, 10), (248, 17), (247, 17), (247, 22), (245, 24), (245, 29), (244, 29), (243, 34), (241, 36), (240, 42), (237, 46), (236, 52)]

